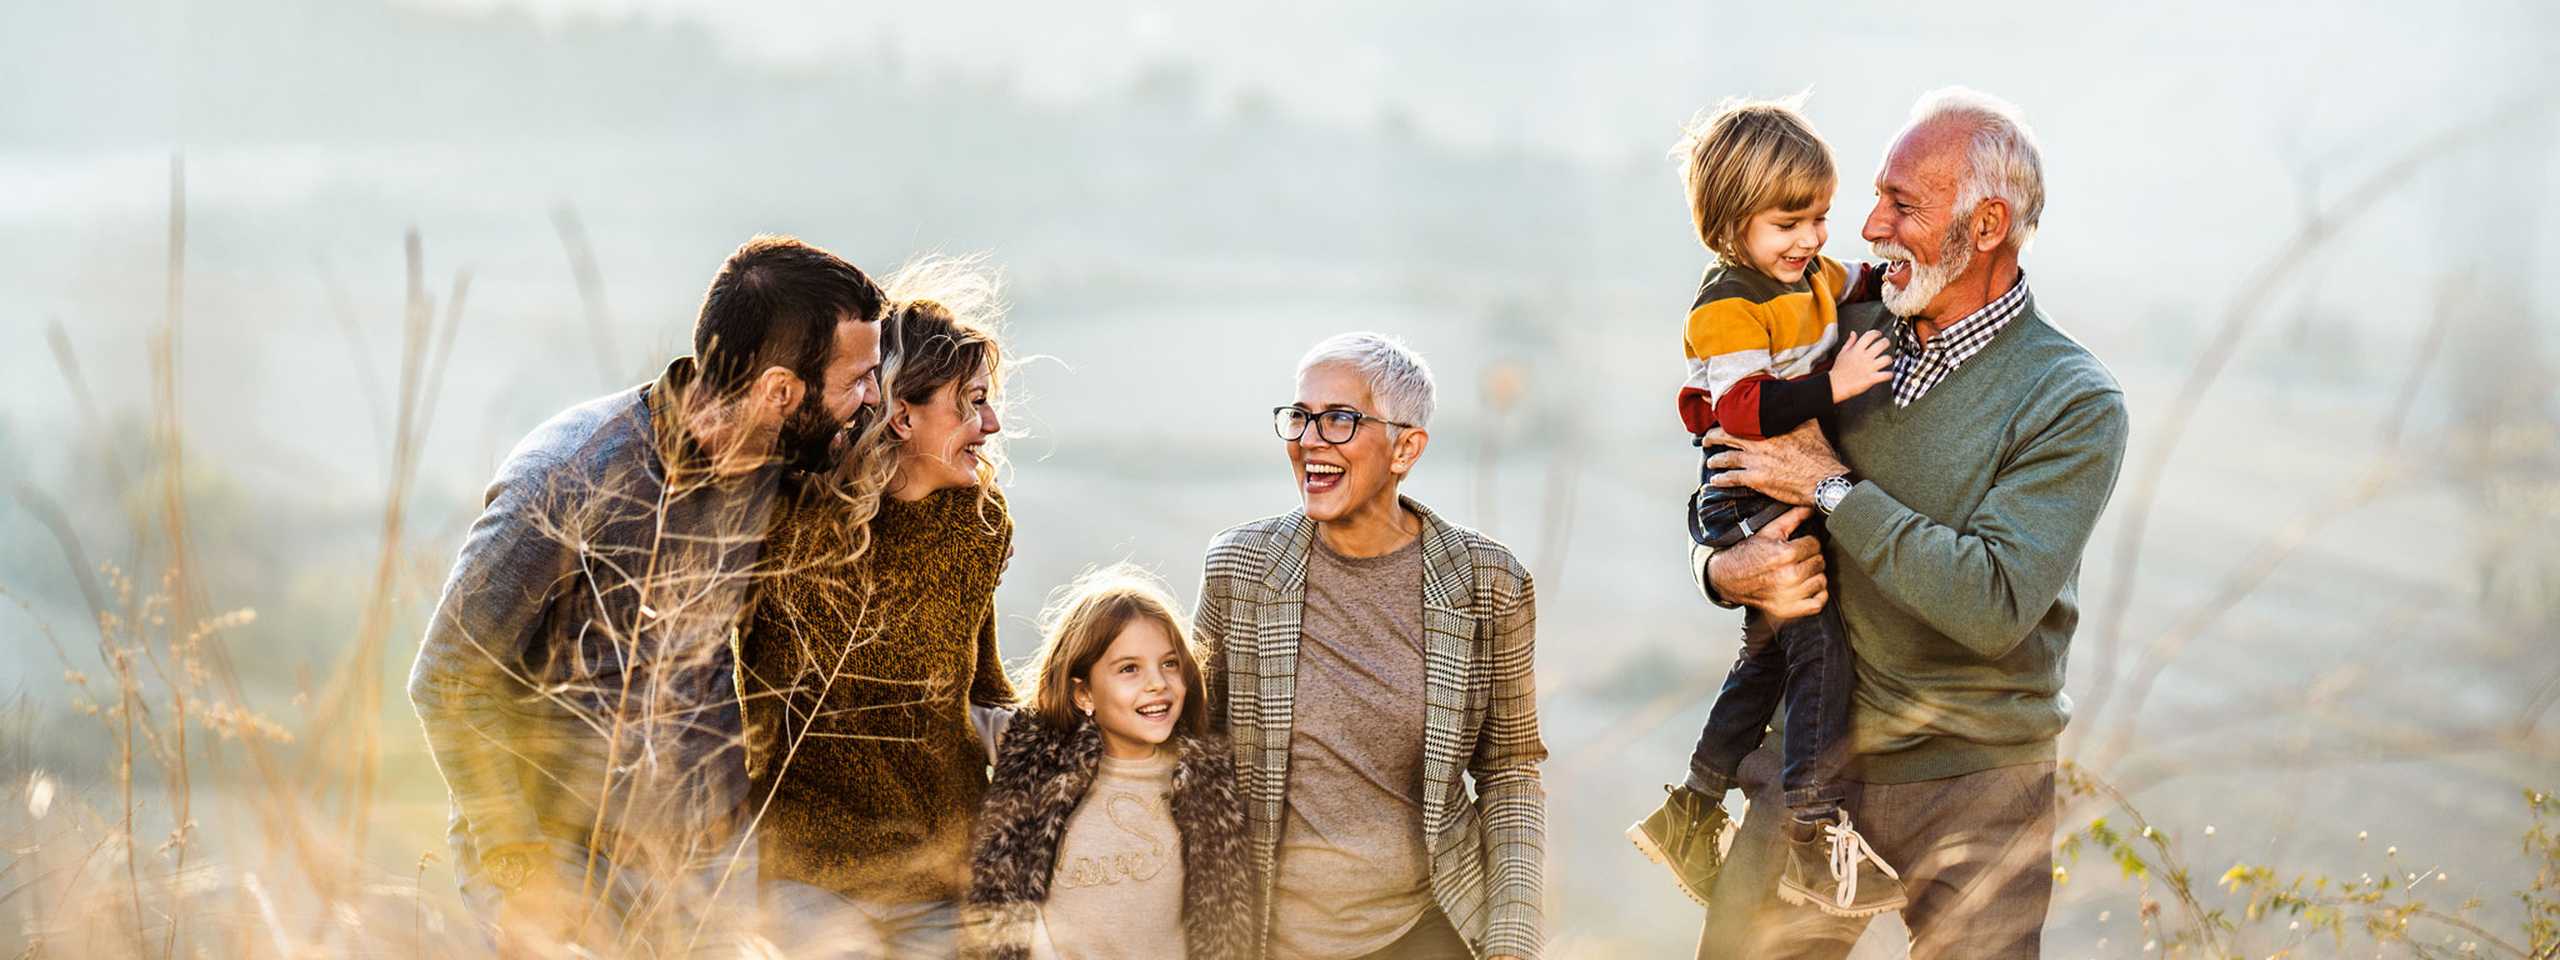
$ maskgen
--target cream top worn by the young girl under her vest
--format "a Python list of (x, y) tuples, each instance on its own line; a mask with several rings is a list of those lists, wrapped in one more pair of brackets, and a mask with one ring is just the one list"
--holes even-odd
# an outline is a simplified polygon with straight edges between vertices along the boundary
[(1060, 960), (1180, 957), (1183, 835), (1172, 827), (1172, 750), (1103, 755), (1068, 817), (1039, 919)]

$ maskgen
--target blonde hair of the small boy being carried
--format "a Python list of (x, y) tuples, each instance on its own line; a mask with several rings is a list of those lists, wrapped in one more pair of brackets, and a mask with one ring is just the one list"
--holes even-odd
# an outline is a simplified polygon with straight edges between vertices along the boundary
[(1830, 143), (1800, 113), (1805, 95), (1779, 100), (1728, 97), (1715, 113), (1682, 125), (1679, 182), (1690, 187), (1697, 241), (1715, 256), (1743, 261), (1743, 228), (1761, 210), (1805, 210), (1838, 187)]

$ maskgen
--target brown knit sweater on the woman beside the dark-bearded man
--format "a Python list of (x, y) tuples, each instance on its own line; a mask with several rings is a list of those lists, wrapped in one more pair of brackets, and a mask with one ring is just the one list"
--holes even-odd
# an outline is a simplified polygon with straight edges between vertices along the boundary
[[(773, 579), (740, 637), (740, 694), (768, 878), (870, 901), (960, 899), (986, 748), (968, 704), (1011, 704), (996, 653), (1004, 499), (881, 499), (845, 563), (845, 504), (786, 489)], [(870, 602), (863, 602), (863, 581)]]

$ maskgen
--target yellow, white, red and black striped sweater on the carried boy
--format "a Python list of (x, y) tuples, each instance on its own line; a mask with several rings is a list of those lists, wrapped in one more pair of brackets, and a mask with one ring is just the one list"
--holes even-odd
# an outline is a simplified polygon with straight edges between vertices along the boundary
[(1815, 256), (1805, 279), (1782, 284), (1751, 266), (1710, 266), (1682, 330), (1679, 422), (1759, 440), (1830, 412), (1830, 379), (1815, 374), (1841, 346), (1838, 302), (1859, 271)]

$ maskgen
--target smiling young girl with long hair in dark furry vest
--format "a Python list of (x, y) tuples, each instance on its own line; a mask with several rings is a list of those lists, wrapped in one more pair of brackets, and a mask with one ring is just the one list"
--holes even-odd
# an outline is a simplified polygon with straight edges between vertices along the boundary
[(1029, 704), (978, 712), (996, 778), (968, 955), (1242, 957), (1244, 804), (1172, 596), (1111, 566), (1068, 584), (1044, 620)]

